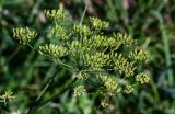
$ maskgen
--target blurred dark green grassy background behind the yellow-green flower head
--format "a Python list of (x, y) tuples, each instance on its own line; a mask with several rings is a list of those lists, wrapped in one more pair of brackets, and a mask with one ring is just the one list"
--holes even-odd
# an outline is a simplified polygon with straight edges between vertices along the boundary
[[(12, 30), (42, 31), (33, 44), (37, 47), (50, 41), (46, 32), (51, 23), (44, 9), (63, 8), (72, 21), (80, 21), (85, 4), (85, 19), (109, 21), (109, 32), (132, 35), (147, 48), (150, 60), (143, 67), (151, 71), (151, 82), (133, 94), (116, 96), (107, 109), (96, 109), (95, 96), (72, 98), (68, 90), (36, 114), (175, 114), (175, 0), (0, 0), (0, 94), (11, 90), (15, 95), (11, 103), (0, 103), (0, 114), (25, 114), (58, 70), (55, 62), (14, 41)], [(52, 96), (68, 78), (59, 68), (43, 99)]]

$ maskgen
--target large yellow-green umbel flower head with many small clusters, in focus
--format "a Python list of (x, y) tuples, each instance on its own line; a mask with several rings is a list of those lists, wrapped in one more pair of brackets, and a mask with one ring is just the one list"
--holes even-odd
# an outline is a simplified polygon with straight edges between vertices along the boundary
[[(44, 12), (55, 23), (48, 35), (58, 42), (46, 43), (37, 50), (72, 72), (72, 80), (77, 80), (73, 96), (98, 93), (102, 106), (106, 106), (108, 98), (131, 93), (136, 83), (149, 82), (149, 73), (139, 68), (139, 64), (148, 61), (148, 55), (131, 36), (104, 34), (109, 23), (97, 18), (89, 18), (89, 24), (71, 24), (63, 10)], [(20, 27), (14, 29), (13, 35), (31, 46), (37, 32)]]

